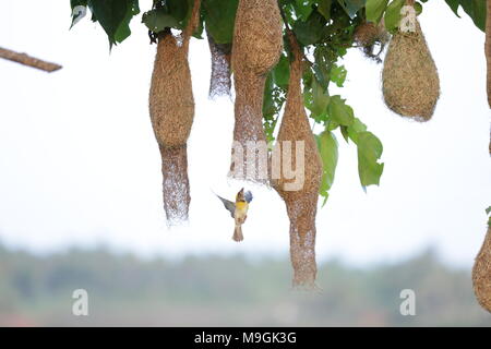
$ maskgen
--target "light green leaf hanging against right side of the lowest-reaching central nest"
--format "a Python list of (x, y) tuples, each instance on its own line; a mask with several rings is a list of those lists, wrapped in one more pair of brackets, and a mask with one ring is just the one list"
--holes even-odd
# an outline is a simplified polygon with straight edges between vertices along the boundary
[(324, 131), (320, 135), (316, 135), (315, 140), (318, 141), (318, 148), (322, 159), (323, 173), (319, 193), (324, 197), (324, 202), (322, 203), (322, 206), (324, 206), (336, 173), (338, 144), (334, 133), (330, 131)]

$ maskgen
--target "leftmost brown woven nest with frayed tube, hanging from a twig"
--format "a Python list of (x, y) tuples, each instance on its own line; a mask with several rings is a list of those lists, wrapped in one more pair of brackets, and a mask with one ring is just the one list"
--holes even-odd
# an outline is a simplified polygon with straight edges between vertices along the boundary
[(149, 92), (149, 115), (163, 164), (164, 208), (169, 224), (188, 218), (187, 142), (194, 118), (194, 98), (188, 62), (189, 40), (196, 27), (200, 2), (195, 0), (182, 40), (170, 31), (158, 35)]

